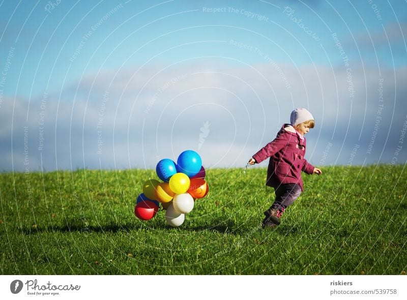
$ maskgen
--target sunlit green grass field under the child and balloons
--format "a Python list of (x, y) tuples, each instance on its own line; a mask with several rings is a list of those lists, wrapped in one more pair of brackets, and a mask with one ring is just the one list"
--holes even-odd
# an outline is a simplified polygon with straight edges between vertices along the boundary
[(403, 166), (323, 167), (275, 229), (266, 169), (214, 169), (178, 228), (134, 214), (153, 170), (0, 174), (2, 274), (397, 275), (407, 269)]

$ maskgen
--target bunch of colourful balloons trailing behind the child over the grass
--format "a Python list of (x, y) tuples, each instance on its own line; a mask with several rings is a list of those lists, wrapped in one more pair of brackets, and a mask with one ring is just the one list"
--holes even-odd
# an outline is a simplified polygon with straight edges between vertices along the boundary
[(178, 227), (184, 223), (185, 214), (192, 211), (195, 199), (208, 194), (202, 160), (195, 151), (186, 150), (178, 157), (177, 164), (170, 159), (160, 160), (156, 172), (162, 182), (149, 179), (144, 183), (134, 214), (141, 220), (150, 220), (155, 217), (161, 204), (166, 210), (166, 222)]

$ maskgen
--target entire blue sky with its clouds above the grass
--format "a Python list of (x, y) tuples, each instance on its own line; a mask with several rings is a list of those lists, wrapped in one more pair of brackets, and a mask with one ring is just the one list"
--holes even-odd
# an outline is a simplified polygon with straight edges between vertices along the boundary
[(401, 0), (3, 0), (0, 171), (244, 167), (297, 107), (311, 164), (405, 164), (406, 34)]

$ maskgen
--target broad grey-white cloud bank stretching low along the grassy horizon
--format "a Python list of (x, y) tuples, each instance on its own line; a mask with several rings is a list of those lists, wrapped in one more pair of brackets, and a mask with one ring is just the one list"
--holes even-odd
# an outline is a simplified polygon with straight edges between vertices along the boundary
[[(355, 143), (361, 149), (357, 163), (391, 160), (399, 135), (396, 129), (406, 118), (402, 102), (406, 69), (398, 69), (396, 74), (382, 69), (379, 76), (375, 69), (353, 67), (352, 98), (344, 68), (279, 68), (290, 83), (288, 89), (271, 65), (235, 68), (208, 63), (104, 72), (67, 87), (60, 101), (59, 94), (48, 95), (45, 108), (41, 108), (42, 97), (32, 99), (28, 122), (26, 99), (16, 99), (14, 115), (13, 100), (4, 99), (0, 153), (5, 159), (0, 169), (12, 168), (12, 133), (14, 168), (23, 170), (24, 126), (30, 128), (31, 169), (40, 167), (40, 153), (46, 170), (99, 165), (154, 168), (160, 158), (176, 159), (185, 149), (199, 149), (204, 163), (211, 167), (244, 167), (299, 106), (308, 107), (316, 118), (316, 127), (307, 137), (307, 158), (312, 163), (321, 162), (330, 142), (334, 146), (324, 164), (346, 164)], [(372, 153), (367, 155), (379, 116), (380, 78), (382, 119)], [(41, 111), (44, 147), (39, 151)], [(210, 124), (210, 132), (199, 148), (205, 123)], [(402, 157), (406, 157), (404, 153)]]

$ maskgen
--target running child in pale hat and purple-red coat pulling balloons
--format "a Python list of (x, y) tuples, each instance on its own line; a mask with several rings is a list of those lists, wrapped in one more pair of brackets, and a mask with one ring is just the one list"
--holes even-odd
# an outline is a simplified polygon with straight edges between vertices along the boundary
[(297, 108), (291, 112), (291, 124), (284, 124), (277, 137), (261, 148), (249, 160), (248, 164), (261, 163), (270, 157), (267, 170), (266, 185), (273, 187), (276, 199), (271, 207), (264, 212), (263, 228), (280, 224), (280, 218), (287, 206), (300, 196), (303, 189), (301, 171), (307, 174), (322, 174), (314, 168), (305, 156), (305, 137), (315, 122), (312, 114), (305, 108)]

